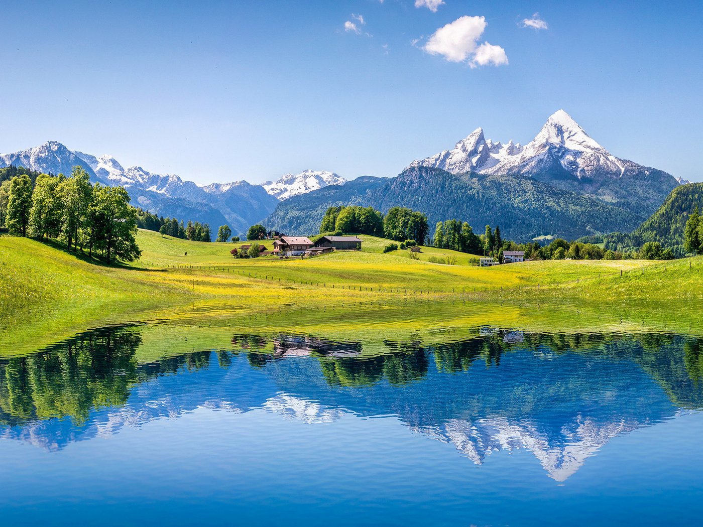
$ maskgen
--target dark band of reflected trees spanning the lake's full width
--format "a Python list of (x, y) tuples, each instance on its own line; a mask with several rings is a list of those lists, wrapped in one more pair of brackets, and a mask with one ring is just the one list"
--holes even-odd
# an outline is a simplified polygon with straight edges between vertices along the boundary
[[(306, 335), (235, 335), (233, 351), (198, 351), (153, 363), (137, 363), (138, 330), (105, 328), (32, 356), (0, 360), (0, 424), (70, 417), (81, 424), (93, 408), (124, 405), (131, 387), (159, 375), (228, 368), (241, 350), (252, 367), (289, 357), (316, 358), (328, 386), (392, 386), (422, 382), (430, 360), (437, 372), (467, 372), (477, 364), (500, 367), (501, 357), (516, 350), (550, 360), (576, 352), (607, 360), (631, 360), (655, 379), (676, 405), (703, 406), (703, 346), (699, 339), (666, 334), (522, 334), (484, 328), (470, 339), (423, 346), (419, 337), (384, 342), (385, 352), (363, 357), (359, 341), (337, 342)], [(591, 384), (599, 379), (591, 379)], [(578, 391), (579, 386), (567, 386)], [(486, 396), (490, 396), (486, 393)], [(559, 398), (559, 393), (552, 396)], [(477, 401), (478, 403), (478, 401)], [(524, 404), (527, 404), (524, 402)]]

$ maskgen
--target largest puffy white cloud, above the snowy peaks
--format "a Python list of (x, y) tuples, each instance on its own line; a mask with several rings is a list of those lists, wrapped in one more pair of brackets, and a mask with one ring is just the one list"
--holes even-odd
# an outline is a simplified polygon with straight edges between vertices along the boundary
[[(440, 27), (423, 46), (430, 55), (441, 55), (449, 62), (465, 62), (470, 67), (508, 64), (508, 56), (501, 46), (478, 41), (486, 29), (486, 18), (463, 16)], [(417, 41), (413, 41), (413, 46)]]

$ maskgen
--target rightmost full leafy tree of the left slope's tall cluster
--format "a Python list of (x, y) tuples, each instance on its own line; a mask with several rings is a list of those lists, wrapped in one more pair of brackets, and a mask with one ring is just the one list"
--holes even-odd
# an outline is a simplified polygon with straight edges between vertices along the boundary
[[(124, 187), (105, 187), (96, 183), (89, 207), (91, 252), (93, 248), (112, 259), (133, 261), (141, 256), (136, 245), (136, 209), (129, 207)], [(178, 226), (178, 223), (176, 223)]]

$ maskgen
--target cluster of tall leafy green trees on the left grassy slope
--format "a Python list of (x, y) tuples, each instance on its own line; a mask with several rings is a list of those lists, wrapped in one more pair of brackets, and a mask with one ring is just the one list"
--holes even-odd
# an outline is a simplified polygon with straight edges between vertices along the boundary
[(72, 250), (88, 249), (113, 259), (132, 261), (137, 214), (122, 187), (92, 186), (89, 175), (74, 167), (70, 177), (17, 171), (0, 186), (1, 223), (13, 235), (63, 240)]

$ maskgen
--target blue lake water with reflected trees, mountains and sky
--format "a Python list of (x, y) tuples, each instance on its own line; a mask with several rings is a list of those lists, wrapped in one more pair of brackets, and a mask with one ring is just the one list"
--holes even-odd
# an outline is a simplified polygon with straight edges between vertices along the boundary
[(363, 342), (233, 334), (228, 350), (140, 362), (141, 331), (0, 359), (4, 523), (661, 525), (703, 513), (692, 337), (477, 328), (368, 357)]

